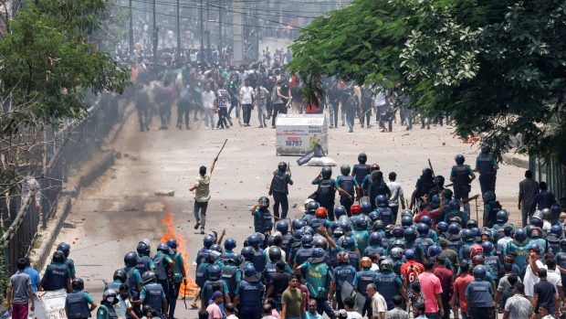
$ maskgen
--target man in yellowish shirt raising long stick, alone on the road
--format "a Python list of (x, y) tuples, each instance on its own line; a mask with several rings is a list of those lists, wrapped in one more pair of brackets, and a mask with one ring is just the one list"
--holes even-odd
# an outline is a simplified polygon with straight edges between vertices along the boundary
[(191, 192), (194, 193), (194, 218), (196, 219), (196, 224), (194, 224), (194, 229), (201, 228), (201, 234), (204, 234), (204, 226), (206, 224), (206, 208), (208, 207), (208, 201), (210, 200), (210, 176), (215, 170), (216, 161), (218, 161), (218, 156), (224, 150), (224, 146), (228, 142), (226, 139), (220, 152), (215, 157), (213, 164), (210, 166), (210, 175), (206, 175), (206, 166), (201, 166), (199, 168), (199, 175), (196, 177), (196, 182), (194, 186), (189, 188)]

